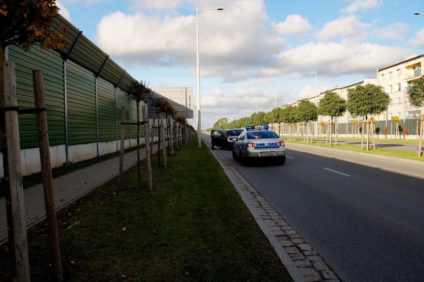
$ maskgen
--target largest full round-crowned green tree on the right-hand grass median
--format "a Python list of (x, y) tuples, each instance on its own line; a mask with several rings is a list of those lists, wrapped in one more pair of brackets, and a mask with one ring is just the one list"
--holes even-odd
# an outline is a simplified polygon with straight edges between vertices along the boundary
[[(389, 103), (389, 94), (385, 93), (381, 86), (374, 84), (358, 85), (347, 90), (347, 110), (353, 115), (362, 115), (365, 119), (368, 119), (368, 115), (382, 113), (387, 109)], [(369, 123), (367, 127), (367, 150), (369, 150), (368, 133)]]

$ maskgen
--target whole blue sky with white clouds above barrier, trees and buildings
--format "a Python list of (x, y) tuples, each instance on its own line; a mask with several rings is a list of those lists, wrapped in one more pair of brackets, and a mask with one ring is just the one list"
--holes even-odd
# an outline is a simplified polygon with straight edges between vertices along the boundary
[[(424, 54), (423, 0), (56, 0), (134, 79), (191, 87), (197, 128), (268, 112)], [(223, 10), (214, 10), (214, 8)], [(210, 10), (201, 10), (211, 8)], [(198, 14), (196, 13), (198, 10)]]

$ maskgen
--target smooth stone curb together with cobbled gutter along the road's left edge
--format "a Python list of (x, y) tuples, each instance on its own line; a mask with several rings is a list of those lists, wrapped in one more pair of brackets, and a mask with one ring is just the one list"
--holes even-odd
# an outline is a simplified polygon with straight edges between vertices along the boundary
[(294, 282), (340, 282), (338, 276), (283, 217), (220, 154), (211, 150)]

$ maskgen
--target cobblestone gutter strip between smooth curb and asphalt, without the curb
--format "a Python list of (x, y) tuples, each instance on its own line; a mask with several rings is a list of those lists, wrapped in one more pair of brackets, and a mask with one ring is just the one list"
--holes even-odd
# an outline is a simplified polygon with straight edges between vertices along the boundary
[(229, 174), (236, 188), (244, 193), (260, 218), (284, 248), (308, 282), (340, 282), (322, 257), (294, 230), (283, 217), (253, 188), (250, 183), (219, 153), (211, 151), (221, 167)]

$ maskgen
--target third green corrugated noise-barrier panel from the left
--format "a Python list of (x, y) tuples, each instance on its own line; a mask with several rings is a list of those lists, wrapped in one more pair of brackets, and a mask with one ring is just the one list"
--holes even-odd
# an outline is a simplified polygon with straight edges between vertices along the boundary
[(116, 138), (115, 89), (105, 80), (97, 79), (97, 100), (99, 118), (99, 141)]

